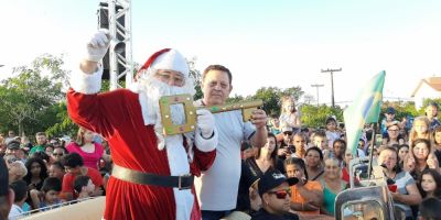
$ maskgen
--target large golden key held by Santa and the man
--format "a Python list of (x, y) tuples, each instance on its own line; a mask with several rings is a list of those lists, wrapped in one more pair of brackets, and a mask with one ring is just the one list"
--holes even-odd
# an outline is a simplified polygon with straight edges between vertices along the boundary
[[(172, 122), (172, 114), (170, 107), (172, 105), (182, 105), (185, 111), (185, 124), (174, 124)], [(219, 113), (224, 111), (241, 110), (244, 121), (249, 121), (258, 107), (263, 105), (262, 100), (241, 101), (237, 103), (228, 103), (223, 106), (212, 106), (207, 109), (212, 113)], [(181, 134), (194, 131), (196, 129), (196, 107), (193, 105), (193, 98), (190, 95), (164, 96), (159, 100), (161, 110), (161, 120), (163, 125), (164, 135)]]

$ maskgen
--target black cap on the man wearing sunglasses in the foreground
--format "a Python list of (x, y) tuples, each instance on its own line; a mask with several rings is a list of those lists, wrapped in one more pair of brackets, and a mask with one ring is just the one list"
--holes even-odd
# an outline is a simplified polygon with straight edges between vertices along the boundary
[(292, 185), (297, 184), (299, 182), (299, 179), (295, 177), (287, 178), (282, 173), (280, 173), (279, 170), (273, 169), (273, 168), (268, 169), (263, 174), (263, 176), (260, 177), (260, 180), (259, 180), (260, 197), (265, 193), (280, 186), (284, 182), (287, 182), (288, 185), (292, 186)]

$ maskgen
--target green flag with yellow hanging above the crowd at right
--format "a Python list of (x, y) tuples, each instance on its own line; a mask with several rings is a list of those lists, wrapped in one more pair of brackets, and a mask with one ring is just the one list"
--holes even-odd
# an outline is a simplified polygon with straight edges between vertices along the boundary
[(373, 77), (361, 90), (352, 105), (344, 111), (346, 127), (347, 151), (356, 155), (358, 140), (365, 123), (378, 122), (383, 102), (383, 87), (386, 72), (380, 72)]

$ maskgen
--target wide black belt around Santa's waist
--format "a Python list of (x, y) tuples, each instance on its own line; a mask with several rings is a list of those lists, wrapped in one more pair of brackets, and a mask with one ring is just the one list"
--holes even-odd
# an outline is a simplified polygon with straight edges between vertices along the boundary
[(161, 176), (157, 174), (142, 173), (114, 164), (111, 176), (115, 178), (130, 182), (133, 184), (163, 186), (182, 189), (191, 189), (193, 186), (193, 175), (183, 176)]

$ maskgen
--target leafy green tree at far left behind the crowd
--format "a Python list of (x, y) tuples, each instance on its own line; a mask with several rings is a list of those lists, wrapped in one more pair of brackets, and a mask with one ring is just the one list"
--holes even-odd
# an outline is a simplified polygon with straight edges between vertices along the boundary
[(67, 79), (67, 72), (63, 69), (63, 56), (44, 54), (30, 66), (13, 69), (15, 76), (0, 85), (2, 127), (18, 128), (20, 134), (46, 129), (44, 116), (65, 96), (62, 86)]

